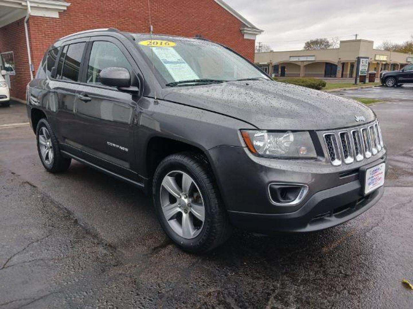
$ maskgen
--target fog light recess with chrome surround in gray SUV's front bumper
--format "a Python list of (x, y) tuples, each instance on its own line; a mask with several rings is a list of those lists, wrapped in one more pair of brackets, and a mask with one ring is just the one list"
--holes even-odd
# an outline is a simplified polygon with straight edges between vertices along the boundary
[(307, 195), (309, 187), (293, 183), (271, 183), (268, 185), (270, 200), (275, 205), (297, 205)]

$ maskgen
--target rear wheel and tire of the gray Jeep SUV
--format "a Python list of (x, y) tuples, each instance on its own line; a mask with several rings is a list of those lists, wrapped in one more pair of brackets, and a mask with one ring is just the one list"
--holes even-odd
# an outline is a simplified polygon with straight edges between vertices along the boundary
[(37, 124), (36, 142), (40, 161), (46, 171), (61, 173), (69, 169), (71, 159), (63, 157), (60, 153), (59, 142), (45, 118), (40, 119)]

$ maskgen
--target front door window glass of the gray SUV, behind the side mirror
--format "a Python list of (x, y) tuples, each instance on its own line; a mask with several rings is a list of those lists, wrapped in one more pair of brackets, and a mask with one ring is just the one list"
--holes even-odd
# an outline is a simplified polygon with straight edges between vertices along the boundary
[(105, 41), (93, 42), (88, 63), (87, 82), (89, 84), (102, 84), (100, 82), (100, 71), (104, 68), (112, 67), (126, 68), (129, 73), (132, 73), (131, 64), (114, 43)]

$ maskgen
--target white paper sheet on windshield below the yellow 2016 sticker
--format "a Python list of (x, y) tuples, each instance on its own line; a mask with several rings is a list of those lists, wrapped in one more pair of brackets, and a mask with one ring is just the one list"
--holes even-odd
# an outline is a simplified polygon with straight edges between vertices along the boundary
[(198, 80), (198, 75), (173, 48), (153, 47), (153, 52), (164, 64), (166, 70), (178, 82), (182, 80)]

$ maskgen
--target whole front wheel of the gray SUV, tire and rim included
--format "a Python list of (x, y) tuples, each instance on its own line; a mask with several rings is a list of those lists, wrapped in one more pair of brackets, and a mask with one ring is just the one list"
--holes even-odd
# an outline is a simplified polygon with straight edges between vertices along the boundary
[(228, 239), (227, 213), (211, 167), (202, 155), (166, 157), (155, 171), (152, 190), (162, 228), (183, 250), (203, 253)]

